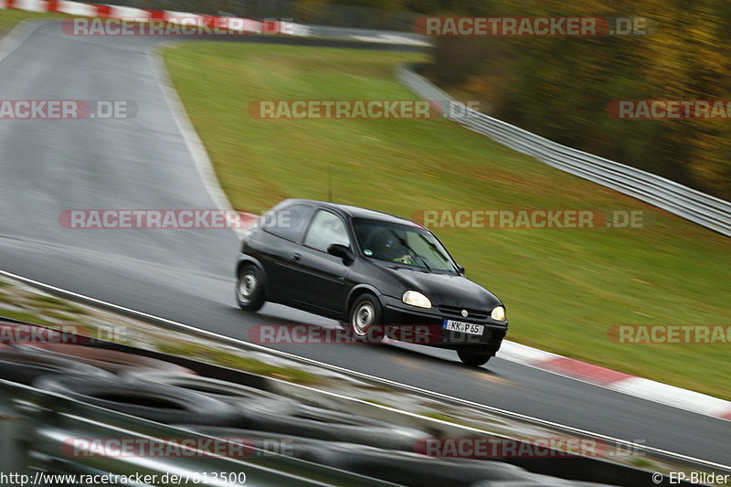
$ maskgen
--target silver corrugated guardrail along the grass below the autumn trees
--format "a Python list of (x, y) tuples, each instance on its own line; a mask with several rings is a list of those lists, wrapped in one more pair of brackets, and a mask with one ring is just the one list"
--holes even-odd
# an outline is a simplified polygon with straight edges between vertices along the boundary
[(440, 104), (442, 114), (493, 141), (562, 171), (636, 197), (674, 215), (731, 237), (731, 203), (629, 165), (588, 154), (468, 108), (414, 71), (399, 66), (397, 79), (421, 98)]

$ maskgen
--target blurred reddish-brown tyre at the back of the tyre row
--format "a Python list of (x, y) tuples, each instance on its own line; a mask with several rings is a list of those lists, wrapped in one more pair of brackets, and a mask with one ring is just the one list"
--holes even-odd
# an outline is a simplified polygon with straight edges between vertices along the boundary
[(127, 354), (106, 348), (78, 344), (18, 344), (18, 350), (38, 355), (58, 356), (75, 360), (81, 364), (94, 365), (114, 373), (131, 370), (152, 369), (171, 374), (196, 375), (196, 372), (180, 365), (143, 355)]

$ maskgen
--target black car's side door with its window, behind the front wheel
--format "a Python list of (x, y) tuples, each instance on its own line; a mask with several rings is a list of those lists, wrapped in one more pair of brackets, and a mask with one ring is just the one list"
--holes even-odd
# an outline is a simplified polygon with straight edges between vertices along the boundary
[(344, 219), (326, 209), (317, 210), (302, 241), (301, 255), (293, 262), (292, 299), (313, 312), (344, 311), (349, 267), (327, 253), (333, 244), (353, 248)]

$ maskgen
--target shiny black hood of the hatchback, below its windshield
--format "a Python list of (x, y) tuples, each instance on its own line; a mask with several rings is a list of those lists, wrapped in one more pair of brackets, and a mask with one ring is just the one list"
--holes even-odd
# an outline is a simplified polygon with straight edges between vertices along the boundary
[(407, 288), (404, 291), (423, 292), (435, 306), (460, 306), (490, 312), (495, 306), (503, 304), (492, 292), (458, 274), (411, 270), (380, 262), (377, 265), (403, 283)]

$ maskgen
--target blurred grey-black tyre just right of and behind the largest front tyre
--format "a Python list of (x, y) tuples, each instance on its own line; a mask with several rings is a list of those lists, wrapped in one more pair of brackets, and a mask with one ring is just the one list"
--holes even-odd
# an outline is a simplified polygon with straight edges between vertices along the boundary
[(293, 399), (281, 397), (255, 387), (243, 386), (211, 377), (170, 374), (147, 369), (131, 370), (123, 376), (154, 384), (193, 390), (247, 410), (262, 410), (271, 414), (296, 414), (301, 408), (300, 403)]

